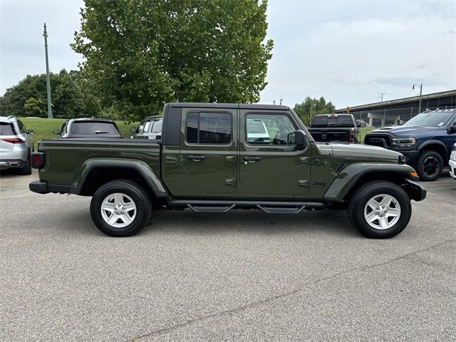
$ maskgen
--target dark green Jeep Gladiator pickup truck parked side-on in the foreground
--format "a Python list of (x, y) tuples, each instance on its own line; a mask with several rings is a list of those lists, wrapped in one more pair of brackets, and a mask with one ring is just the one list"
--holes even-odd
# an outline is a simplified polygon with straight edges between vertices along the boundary
[[(140, 231), (152, 209), (344, 208), (361, 234), (388, 238), (407, 226), (410, 200), (426, 196), (400, 153), (316, 143), (286, 106), (168, 103), (163, 114), (161, 142), (41, 140), (30, 190), (91, 196), (93, 222), (113, 237)], [(268, 139), (249, 135), (259, 123)]]

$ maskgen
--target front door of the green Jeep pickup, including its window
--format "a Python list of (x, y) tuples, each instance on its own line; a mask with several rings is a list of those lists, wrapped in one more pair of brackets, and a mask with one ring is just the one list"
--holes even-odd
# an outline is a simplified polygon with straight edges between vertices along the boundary
[(310, 146), (298, 150), (299, 128), (291, 113), (241, 110), (239, 182), (250, 195), (306, 195), (310, 183)]

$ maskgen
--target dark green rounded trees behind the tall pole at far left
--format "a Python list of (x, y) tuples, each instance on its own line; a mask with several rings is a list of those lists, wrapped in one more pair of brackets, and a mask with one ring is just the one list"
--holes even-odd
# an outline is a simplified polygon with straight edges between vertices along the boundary
[[(51, 97), (53, 116), (78, 118), (95, 116), (100, 111), (99, 100), (82, 90), (71, 73), (65, 69), (51, 73)], [(18, 84), (6, 89), (1, 99), (2, 115), (47, 116), (46, 74), (27, 75)]]

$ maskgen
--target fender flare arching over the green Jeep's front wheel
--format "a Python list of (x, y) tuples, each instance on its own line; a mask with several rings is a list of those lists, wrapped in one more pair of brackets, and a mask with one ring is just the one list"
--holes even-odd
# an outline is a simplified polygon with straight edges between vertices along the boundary
[(374, 172), (395, 173), (404, 178), (412, 178), (413, 167), (405, 164), (381, 164), (374, 162), (356, 162), (345, 167), (333, 180), (323, 199), (329, 202), (343, 202), (348, 192), (364, 175)]

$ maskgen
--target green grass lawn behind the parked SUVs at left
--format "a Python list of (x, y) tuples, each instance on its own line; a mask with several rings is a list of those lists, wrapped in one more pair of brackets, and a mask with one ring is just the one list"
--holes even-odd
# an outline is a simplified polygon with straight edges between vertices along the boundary
[[(66, 119), (21, 118), (22, 123), (24, 123), (28, 130), (35, 131), (35, 134), (33, 134), (35, 146), (40, 140), (57, 138), (57, 135), (53, 134), (52, 131), (55, 128), (60, 130), (65, 120)], [(130, 127), (138, 126), (138, 123), (131, 123), (128, 125), (125, 121), (115, 121), (115, 123), (117, 123), (123, 138), (130, 137)]]

